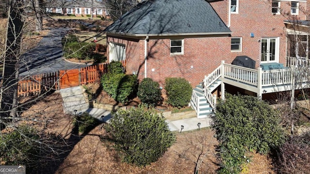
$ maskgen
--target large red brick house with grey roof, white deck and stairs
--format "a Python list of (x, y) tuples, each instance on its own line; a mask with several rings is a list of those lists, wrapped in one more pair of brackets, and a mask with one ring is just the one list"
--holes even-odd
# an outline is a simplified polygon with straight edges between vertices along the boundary
[[(286, 67), (308, 59), (309, 7), (310, 0), (144, 1), (106, 29), (108, 59), (126, 59), (127, 73), (161, 85), (186, 78), (197, 85), (191, 105), (204, 117), (224, 91), (264, 99), (309, 88), (292, 85)], [(254, 68), (232, 65), (237, 57)]]

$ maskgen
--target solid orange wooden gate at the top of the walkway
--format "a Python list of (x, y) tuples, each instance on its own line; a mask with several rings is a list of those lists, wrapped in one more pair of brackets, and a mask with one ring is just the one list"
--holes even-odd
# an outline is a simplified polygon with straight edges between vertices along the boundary
[(74, 70), (60, 70), (60, 88), (67, 87), (78, 87), (79, 86), (79, 71), (78, 69)]

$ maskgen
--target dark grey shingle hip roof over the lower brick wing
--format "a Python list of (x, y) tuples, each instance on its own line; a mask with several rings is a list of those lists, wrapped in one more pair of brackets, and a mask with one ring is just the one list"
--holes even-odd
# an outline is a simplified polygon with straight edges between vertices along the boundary
[(229, 34), (205, 0), (147, 0), (105, 29), (124, 35)]

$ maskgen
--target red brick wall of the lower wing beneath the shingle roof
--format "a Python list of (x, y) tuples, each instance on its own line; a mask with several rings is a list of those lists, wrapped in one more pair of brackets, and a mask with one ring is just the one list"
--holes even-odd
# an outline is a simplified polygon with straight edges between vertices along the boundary
[[(108, 41), (126, 45), (126, 71), (129, 74), (138, 73), (138, 78), (142, 80), (145, 73), (144, 40), (126, 41), (124, 38), (109, 37)], [(147, 47), (147, 77), (161, 86), (164, 86), (166, 77), (184, 77), (195, 87), (202, 82), (204, 75), (220, 65), (221, 60), (232, 62), (228, 36), (185, 38), (184, 55), (170, 54), (170, 39), (150, 39)]]

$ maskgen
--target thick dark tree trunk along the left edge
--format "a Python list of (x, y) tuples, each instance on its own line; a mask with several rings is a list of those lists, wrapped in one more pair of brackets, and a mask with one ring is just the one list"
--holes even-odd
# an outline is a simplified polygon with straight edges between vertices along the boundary
[(1, 116), (16, 117), (20, 44), (23, 28), (23, 0), (10, 0), (7, 22), (6, 50), (1, 81)]

